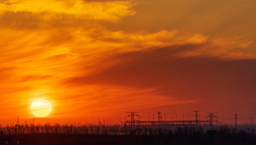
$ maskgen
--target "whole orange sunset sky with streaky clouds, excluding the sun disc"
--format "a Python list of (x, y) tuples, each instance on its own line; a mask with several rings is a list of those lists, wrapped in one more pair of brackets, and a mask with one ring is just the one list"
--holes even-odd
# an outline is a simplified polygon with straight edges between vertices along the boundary
[(4, 125), (256, 122), (256, 1), (0, 0), (0, 99)]

